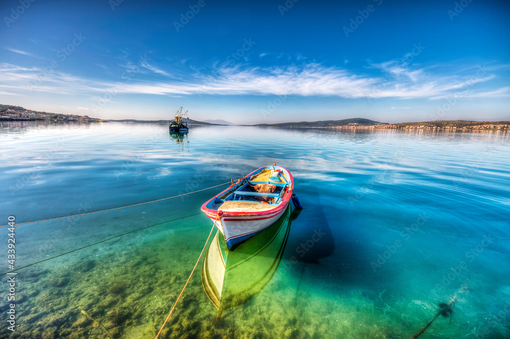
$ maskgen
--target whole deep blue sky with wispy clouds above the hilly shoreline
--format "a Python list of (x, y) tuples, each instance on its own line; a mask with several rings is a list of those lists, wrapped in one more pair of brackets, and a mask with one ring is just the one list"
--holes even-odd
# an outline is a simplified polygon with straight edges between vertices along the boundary
[[(32, 2), (33, 1), (33, 2)], [(0, 2), (0, 103), (103, 119), (510, 120), (508, 1)]]

